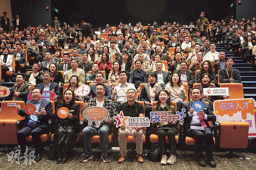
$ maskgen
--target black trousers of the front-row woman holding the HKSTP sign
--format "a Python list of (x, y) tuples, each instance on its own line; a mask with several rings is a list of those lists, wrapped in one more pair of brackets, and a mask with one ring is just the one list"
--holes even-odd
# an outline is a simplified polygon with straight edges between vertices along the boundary
[(176, 140), (175, 135), (177, 134), (175, 129), (156, 129), (155, 134), (158, 136), (158, 143), (162, 154), (166, 155), (167, 148), (165, 143), (165, 137), (168, 137), (171, 154), (176, 154)]

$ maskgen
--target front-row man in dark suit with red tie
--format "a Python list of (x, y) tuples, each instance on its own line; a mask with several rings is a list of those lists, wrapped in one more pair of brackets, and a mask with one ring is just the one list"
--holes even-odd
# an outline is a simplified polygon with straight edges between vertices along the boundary
[[(192, 100), (190, 102), (184, 103), (184, 108), (186, 109), (186, 117), (184, 117), (184, 128), (186, 131), (186, 136), (195, 139), (195, 153), (199, 154), (198, 164), (200, 166), (206, 166), (206, 163), (211, 167), (215, 167), (216, 163), (213, 159), (213, 134), (212, 130), (207, 123), (207, 121), (216, 121), (216, 116), (212, 113), (212, 110), (208, 103), (204, 103), (204, 108), (199, 112), (195, 112), (192, 108), (192, 104), (195, 101), (200, 101), (202, 91), (199, 88), (194, 88), (190, 91), (192, 96)], [(200, 126), (202, 127), (204, 124), (201, 124), (198, 114), (204, 118), (204, 123), (206, 127), (204, 130), (196, 130), (192, 129), (191, 125), (193, 126)], [(203, 159), (203, 140), (205, 140), (205, 148), (206, 148), (206, 155), (207, 155), (207, 162), (205, 163)]]

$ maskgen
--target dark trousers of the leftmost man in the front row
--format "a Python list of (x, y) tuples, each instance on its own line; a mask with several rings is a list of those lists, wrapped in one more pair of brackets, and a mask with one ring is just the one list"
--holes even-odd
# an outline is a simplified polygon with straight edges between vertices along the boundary
[(42, 134), (49, 133), (49, 130), (41, 123), (26, 124), (21, 130), (17, 132), (17, 140), (21, 148), (21, 152), (26, 151), (25, 137), (31, 135), (36, 148), (36, 154), (41, 153), (41, 138)]

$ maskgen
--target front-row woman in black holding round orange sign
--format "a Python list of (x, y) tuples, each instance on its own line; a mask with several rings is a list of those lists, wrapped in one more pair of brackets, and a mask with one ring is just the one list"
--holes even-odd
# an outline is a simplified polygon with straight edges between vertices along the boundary
[[(59, 118), (57, 114), (57, 111), (61, 107), (66, 107), (69, 110), (68, 117), (64, 119)], [(65, 164), (67, 162), (67, 155), (70, 148), (73, 148), (79, 134), (79, 113), (80, 105), (75, 103), (75, 93), (71, 89), (65, 90), (63, 100), (58, 104), (55, 113), (48, 113), (50, 119), (58, 120), (53, 136), (54, 145), (58, 153), (57, 164)]]

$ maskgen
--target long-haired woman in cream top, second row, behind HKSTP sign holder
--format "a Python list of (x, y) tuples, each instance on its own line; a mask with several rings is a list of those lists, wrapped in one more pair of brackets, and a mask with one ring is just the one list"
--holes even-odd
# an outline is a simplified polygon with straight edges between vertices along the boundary
[(176, 72), (171, 75), (171, 83), (166, 84), (165, 90), (170, 94), (170, 100), (175, 102), (184, 102), (187, 98), (187, 94), (185, 91), (185, 87), (182, 85), (180, 81), (180, 75)]

